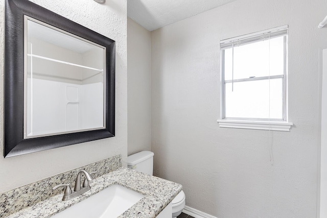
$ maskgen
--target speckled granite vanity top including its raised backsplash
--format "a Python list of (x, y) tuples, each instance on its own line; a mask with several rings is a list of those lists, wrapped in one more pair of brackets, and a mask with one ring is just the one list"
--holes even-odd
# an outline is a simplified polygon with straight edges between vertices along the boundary
[[(0, 195), (0, 214), (4, 215), (2, 217), (8, 218), (71, 217), (69, 215), (61, 216), (60, 212), (63, 211), (65, 213), (67, 208), (68, 210), (73, 209), (74, 206), (82, 204), (84, 200), (87, 202), (89, 197), (101, 195), (101, 191), (105, 193), (106, 188), (114, 185), (127, 188), (143, 196), (118, 216), (110, 216), (109, 211), (109, 215), (106, 217), (171, 217), (171, 201), (181, 191), (182, 186), (175, 182), (122, 167), (121, 159), (122, 156), (117, 155), (3, 193)], [(52, 190), (52, 188), (58, 184), (71, 182), (69, 179), (74, 180), (77, 172), (82, 169), (88, 172), (96, 172), (96, 174), (92, 174), (94, 179), (89, 182), (90, 190), (71, 200), (62, 201), (63, 189)], [(69, 178), (68, 181), (66, 180), (67, 178)], [(72, 182), (72, 184), (74, 183)], [(101, 196), (99, 204), (104, 202), (100, 199)], [(94, 214), (92, 217), (101, 217), (102, 213), (97, 216), (96, 211), (92, 211), (92, 208), (94, 207), (91, 205), (87, 208), (87, 211)]]

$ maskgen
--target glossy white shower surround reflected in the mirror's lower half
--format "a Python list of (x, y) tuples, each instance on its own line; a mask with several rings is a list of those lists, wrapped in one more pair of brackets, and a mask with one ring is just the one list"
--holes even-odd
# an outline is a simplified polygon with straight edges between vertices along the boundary
[(33, 79), (28, 135), (102, 127), (103, 96), (98, 94), (102, 87), (102, 83), (77, 85)]

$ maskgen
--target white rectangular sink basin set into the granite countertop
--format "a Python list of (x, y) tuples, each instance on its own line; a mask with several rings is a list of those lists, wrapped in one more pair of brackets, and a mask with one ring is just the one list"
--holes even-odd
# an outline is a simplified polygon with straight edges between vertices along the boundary
[(116, 218), (143, 197), (141, 193), (114, 184), (52, 217)]

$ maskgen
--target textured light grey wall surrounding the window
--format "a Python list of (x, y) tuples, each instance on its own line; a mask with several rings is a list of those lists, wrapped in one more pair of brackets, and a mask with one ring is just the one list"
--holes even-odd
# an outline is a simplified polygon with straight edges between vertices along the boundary
[[(316, 217), (323, 0), (242, 0), (151, 32), (154, 173), (219, 218)], [(289, 25), (290, 132), (219, 128), (219, 41)]]

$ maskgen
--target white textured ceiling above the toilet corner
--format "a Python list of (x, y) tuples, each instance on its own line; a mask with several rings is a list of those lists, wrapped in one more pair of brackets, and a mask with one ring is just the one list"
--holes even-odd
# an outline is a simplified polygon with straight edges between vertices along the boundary
[(127, 15), (149, 31), (236, 0), (128, 0)]

